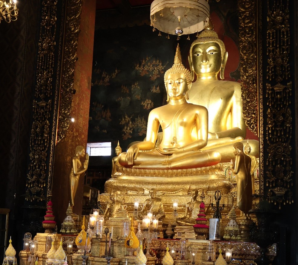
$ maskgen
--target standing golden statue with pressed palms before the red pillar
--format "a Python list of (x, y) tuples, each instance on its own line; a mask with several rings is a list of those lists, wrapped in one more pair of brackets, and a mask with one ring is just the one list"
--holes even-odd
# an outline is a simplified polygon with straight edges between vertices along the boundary
[(70, 187), (70, 205), (71, 208), (75, 205), (75, 194), (78, 189), (79, 179), (81, 174), (83, 174), (87, 168), (89, 163), (89, 155), (86, 154), (86, 160), (84, 161), (84, 164), (81, 163), (81, 158), (85, 156), (85, 149), (83, 146), (78, 145), (75, 148), (75, 156), (72, 158), (71, 163), (71, 171), (69, 174), (69, 187)]

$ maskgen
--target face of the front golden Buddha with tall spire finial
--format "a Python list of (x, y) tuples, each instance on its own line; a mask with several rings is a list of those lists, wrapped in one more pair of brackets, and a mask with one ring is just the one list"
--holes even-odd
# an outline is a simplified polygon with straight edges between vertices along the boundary
[(185, 97), (188, 85), (184, 73), (169, 74), (166, 84), (167, 94), (170, 99), (179, 100)]

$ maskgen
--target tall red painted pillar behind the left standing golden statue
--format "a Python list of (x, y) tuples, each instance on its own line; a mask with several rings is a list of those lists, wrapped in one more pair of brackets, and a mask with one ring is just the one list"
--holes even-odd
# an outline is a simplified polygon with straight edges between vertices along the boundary
[[(80, 34), (78, 38), (77, 57), (75, 65), (74, 89), (71, 105), (71, 117), (75, 122), (71, 123), (65, 138), (55, 147), (55, 164), (53, 177), (53, 210), (58, 222), (58, 228), (65, 218), (66, 209), (69, 201), (69, 173), (71, 170), (71, 160), (75, 155), (75, 147), (87, 145), (88, 119), (91, 91), (91, 72), (94, 43), (94, 25), (95, 25), (95, 0), (84, 0)], [(85, 159), (85, 158), (84, 158)], [(82, 164), (84, 159), (81, 160)], [(73, 212), (81, 214), (82, 196), (83, 196), (84, 174), (79, 180), (78, 190), (75, 196), (75, 205)], [(58, 208), (59, 205), (59, 208)]]

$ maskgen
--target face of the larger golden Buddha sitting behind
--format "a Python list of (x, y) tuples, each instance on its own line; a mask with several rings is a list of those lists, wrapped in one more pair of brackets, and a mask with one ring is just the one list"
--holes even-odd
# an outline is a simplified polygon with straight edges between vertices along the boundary
[(198, 43), (192, 50), (194, 72), (199, 77), (217, 75), (222, 65), (220, 46), (216, 42)]

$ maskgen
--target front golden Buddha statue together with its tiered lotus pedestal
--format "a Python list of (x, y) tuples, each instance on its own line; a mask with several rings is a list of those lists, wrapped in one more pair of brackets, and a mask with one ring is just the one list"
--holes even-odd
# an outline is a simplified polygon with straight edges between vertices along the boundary
[[(150, 112), (146, 139), (132, 143), (114, 160), (113, 176), (105, 183), (105, 192), (117, 188), (121, 193), (146, 194), (155, 188), (185, 194), (200, 186), (228, 193), (232, 184), (221, 172), (220, 152), (203, 150), (208, 142), (208, 111), (187, 102), (191, 73), (182, 64), (179, 45), (164, 83), (168, 104)], [(232, 147), (230, 153), (233, 155)]]

